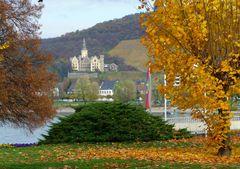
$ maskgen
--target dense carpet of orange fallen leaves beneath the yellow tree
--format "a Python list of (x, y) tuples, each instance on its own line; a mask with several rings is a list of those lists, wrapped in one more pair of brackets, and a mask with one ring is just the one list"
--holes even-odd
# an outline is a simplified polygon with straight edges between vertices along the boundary
[[(74, 149), (67, 152), (63, 149), (57, 150), (56, 161), (69, 160), (91, 160), (91, 159), (136, 159), (148, 161), (170, 161), (200, 164), (237, 164), (240, 163), (240, 149), (231, 157), (218, 157), (206, 148), (90, 148), (88, 150)], [(48, 157), (45, 159), (48, 161)]]

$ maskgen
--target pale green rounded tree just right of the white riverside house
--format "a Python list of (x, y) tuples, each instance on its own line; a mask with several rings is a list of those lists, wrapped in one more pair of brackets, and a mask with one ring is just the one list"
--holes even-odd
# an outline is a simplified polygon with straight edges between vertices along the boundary
[(123, 80), (114, 86), (114, 101), (128, 102), (136, 99), (136, 85), (131, 80)]

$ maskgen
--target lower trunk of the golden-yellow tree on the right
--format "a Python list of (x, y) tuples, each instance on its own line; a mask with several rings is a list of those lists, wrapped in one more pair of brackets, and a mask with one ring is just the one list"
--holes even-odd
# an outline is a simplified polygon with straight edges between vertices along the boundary
[[(227, 123), (229, 119), (226, 119), (226, 116), (230, 117), (229, 113), (224, 114), (222, 109), (218, 109), (218, 113), (221, 117), (223, 117), (225, 123)], [(231, 138), (230, 138), (230, 126), (224, 126), (222, 130), (228, 130), (227, 139), (222, 141), (222, 147), (218, 149), (218, 156), (231, 156), (232, 148), (231, 148)]]

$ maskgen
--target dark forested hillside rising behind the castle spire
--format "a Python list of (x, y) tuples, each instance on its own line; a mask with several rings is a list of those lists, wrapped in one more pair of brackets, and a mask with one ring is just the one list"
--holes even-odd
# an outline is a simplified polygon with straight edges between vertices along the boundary
[(139, 14), (134, 14), (99, 23), (82, 31), (66, 33), (61, 37), (43, 39), (42, 48), (53, 54), (55, 58), (66, 59), (80, 54), (82, 40), (85, 38), (90, 55), (100, 55), (106, 54), (120, 41), (138, 39), (142, 34)]

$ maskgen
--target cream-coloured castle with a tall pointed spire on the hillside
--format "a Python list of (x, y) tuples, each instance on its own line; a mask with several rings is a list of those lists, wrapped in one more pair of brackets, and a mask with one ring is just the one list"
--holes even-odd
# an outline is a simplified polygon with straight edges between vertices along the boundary
[(86, 41), (83, 39), (83, 48), (81, 51), (81, 55), (78, 57), (74, 56), (70, 58), (72, 71), (78, 72), (96, 72), (104, 71), (104, 55), (100, 55), (100, 57), (92, 56), (88, 57), (88, 50), (86, 46)]

